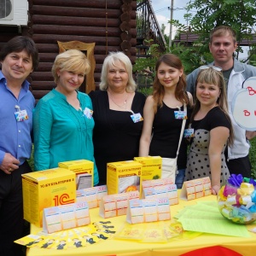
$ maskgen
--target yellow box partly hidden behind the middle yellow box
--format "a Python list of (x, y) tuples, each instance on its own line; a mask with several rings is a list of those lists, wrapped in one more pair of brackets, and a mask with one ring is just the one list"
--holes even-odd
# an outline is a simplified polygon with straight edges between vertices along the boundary
[(142, 180), (158, 179), (162, 175), (162, 158), (160, 156), (135, 157), (143, 165)]

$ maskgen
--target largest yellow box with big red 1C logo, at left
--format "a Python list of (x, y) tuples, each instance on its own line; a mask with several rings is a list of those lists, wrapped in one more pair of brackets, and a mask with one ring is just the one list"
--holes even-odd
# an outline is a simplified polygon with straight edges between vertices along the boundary
[(24, 218), (43, 225), (44, 208), (76, 201), (75, 173), (63, 168), (22, 174)]

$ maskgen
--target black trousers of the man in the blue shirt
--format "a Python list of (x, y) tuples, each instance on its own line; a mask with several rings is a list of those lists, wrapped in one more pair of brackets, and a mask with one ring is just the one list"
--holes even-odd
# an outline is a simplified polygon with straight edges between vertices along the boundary
[(32, 172), (25, 161), (11, 174), (0, 170), (0, 255), (20, 256), (20, 245), (14, 241), (23, 236), (23, 198), (21, 174)]

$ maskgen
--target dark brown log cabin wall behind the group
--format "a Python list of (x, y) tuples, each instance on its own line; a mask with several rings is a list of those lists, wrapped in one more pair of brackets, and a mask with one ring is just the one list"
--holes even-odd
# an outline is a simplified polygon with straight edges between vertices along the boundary
[[(55, 87), (51, 67), (59, 53), (57, 41), (95, 43), (95, 86), (109, 51), (124, 51), (136, 59), (136, 0), (28, 0), (29, 23), (22, 35), (38, 46), (39, 67), (31, 75), (32, 93), (38, 100)], [(17, 27), (0, 27), (1, 45), (18, 35)], [(87, 91), (89, 92), (89, 91)]]

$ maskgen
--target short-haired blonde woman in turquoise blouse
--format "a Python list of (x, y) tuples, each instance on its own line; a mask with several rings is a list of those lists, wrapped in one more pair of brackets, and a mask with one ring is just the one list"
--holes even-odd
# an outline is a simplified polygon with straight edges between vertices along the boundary
[[(61, 161), (94, 160), (92, 104), (78, 91), (90, 63), (84, 53), (70, 49), (56, 56), (52, 73), (56, 87), (39, 100), (33, 112), (34, 166), (55, 168)], [(94, 164), (94, 184), (99, 177)]]

